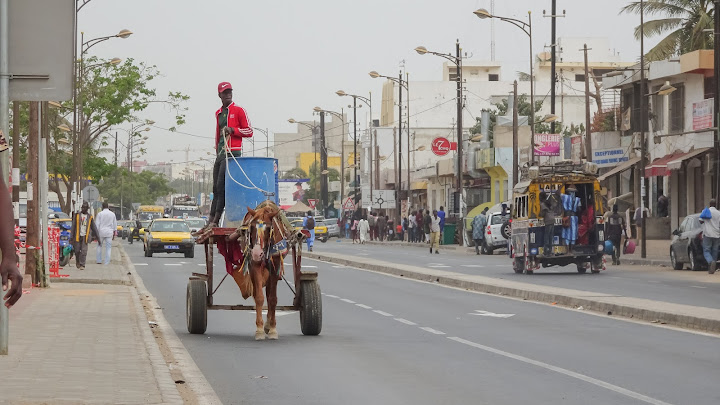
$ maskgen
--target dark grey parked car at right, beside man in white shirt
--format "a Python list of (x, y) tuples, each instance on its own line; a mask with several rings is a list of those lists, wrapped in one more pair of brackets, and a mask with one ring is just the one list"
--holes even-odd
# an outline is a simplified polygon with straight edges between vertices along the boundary
[(682, 270), (687, 263), (690, 270), (704, 270), (707, 268), (707, 261), (702, 251), (702, 224), (700, 214), (688, 215), (680, 224), (680, 227), (673, 231), (673, 239), (670, 243), (670, 262), (675, 270)]

